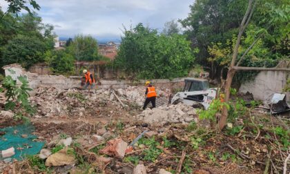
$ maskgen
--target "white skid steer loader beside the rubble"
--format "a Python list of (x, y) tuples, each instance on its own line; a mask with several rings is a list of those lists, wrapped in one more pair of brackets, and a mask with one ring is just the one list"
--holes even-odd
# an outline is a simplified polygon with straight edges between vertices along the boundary
[(209, 81), (206, 79), (186, 78), (185, 85), (182, 92), (176, 93), (169, 99), (171, 104), (178, 104), (180, 102), (204, 109), (209, 108), (211, 101), (217, 95), (217, 88), (209, 88)]

